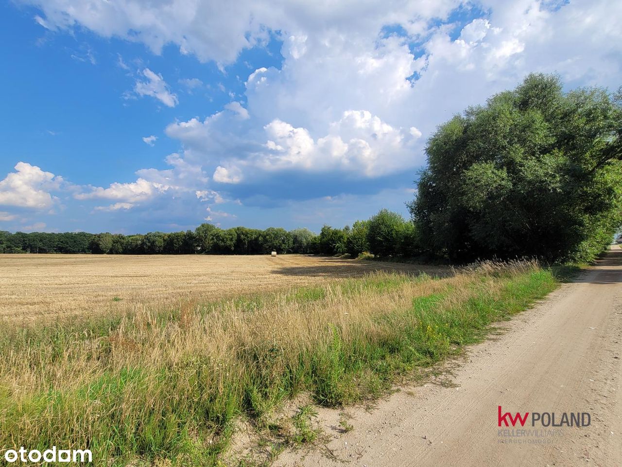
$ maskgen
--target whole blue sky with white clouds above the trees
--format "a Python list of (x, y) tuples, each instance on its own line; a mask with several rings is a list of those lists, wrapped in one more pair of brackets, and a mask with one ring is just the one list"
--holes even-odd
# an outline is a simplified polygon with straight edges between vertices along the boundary
[(622, 85), (622, 2), (0, 2), (0, 230), (341, 227), (425, 141), (557, 73)]

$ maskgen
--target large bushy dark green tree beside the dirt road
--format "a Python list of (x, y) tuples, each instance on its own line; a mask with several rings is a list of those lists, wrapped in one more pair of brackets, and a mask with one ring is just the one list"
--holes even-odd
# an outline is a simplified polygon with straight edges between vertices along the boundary
[(409, 204), (424, 246), (592, 259), (622, 222), (621, 95), (532, 74), (440, 126)]

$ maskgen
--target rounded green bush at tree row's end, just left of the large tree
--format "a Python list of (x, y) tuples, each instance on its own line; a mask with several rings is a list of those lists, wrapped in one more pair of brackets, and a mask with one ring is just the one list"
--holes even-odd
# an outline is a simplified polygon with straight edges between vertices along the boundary
[(406, 220), (397, 212), (379, 210), (369, 219), (367, 240), (374, 255), (399, 255), (406, 232)]

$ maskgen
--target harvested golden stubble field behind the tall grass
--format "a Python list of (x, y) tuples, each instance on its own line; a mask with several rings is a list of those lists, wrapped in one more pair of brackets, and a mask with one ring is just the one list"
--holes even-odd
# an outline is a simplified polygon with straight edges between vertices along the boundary
[(305, 255), (0, 255), (0, 320), (164, 308), (379, 270), (444, 272)]

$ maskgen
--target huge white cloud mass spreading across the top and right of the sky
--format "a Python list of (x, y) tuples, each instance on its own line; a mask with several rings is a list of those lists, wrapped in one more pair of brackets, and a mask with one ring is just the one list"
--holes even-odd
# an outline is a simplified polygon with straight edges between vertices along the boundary
[[(47, 29), (85, 27), (143, 42), (156, 54), (175, 44), (225, 71), (244, 49), (282, 41), (282, 65), (256, 64), (243, 98), (165, 128), (180, 144), (174, 168), (139, 177), (192, 193), (211, 181), (232, 191), (256, 187), (279, 171), (316, 180), (338, 172), (368, 183), (406, 171), (409, 184), (437, 125), (527, 73), (557, 72), (569, 87), (612, 88), (622, 73), (622, 2), (606, 0), (555, 7), (539, 0), (344, 1), (330, 8), (263, 0), (217, 8), (207, 0), (23, 1), (40, 8), (37, 21)], [(458, 8), (471, 18), (454, 19)], [(177, 105), (161, 75), (149, 68), (142, 75), (138, 95)], [(203, 85), (198, 78), (179, 83), (189, 91)]]

